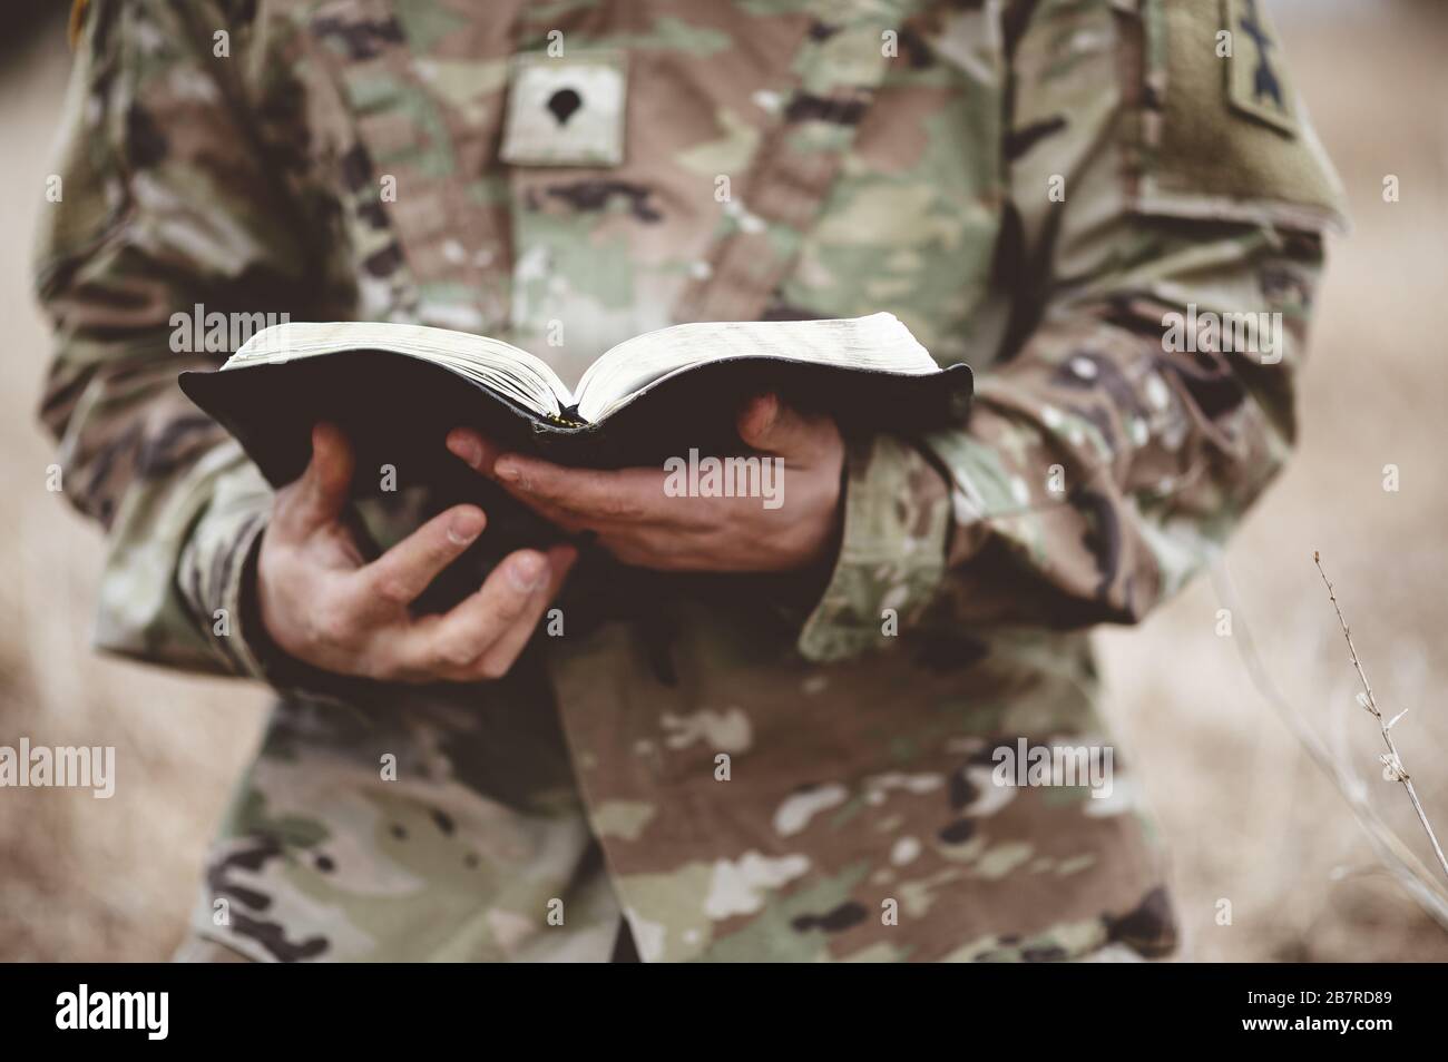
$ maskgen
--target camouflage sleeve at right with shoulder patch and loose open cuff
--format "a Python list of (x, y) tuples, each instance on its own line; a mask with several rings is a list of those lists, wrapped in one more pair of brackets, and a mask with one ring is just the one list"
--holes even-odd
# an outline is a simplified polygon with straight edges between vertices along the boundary
[(807, 657), (1135, 622), (1283, 464), (1337, 181), (1300, 110), (1268, 129), (1224, 98), (1215, 4), (1140, 7), (1043, 6), (1015, 42), (1014, 336), (963, 428), (851, 443)]

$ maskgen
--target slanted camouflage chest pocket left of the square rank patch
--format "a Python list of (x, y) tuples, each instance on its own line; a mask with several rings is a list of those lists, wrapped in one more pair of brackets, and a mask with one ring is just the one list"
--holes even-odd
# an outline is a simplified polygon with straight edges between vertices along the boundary
[[(508, 12), (443, 33), (382, 0), (332, 0), (307, 43), (359, 263), (359, 313), (488, 331), (507, 320), (508, 211), (485, 161), (508, 80)], [(466, 55), (466, 58), (449, 58)], [(330, 106), (329, 106), (330, 104)]]

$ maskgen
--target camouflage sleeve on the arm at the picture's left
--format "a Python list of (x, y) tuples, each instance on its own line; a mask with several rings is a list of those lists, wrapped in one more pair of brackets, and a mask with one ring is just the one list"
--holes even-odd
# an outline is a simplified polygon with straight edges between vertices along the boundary
[(219, 321), (306, 314), (320, 272), (251, 120), (251, 38), (211, 3), (88, 4), (35, 265), (41, 415), (65, 495), (107, 530), (97, 647), (236, 674), (259, 673), (239, 595), (271, 492), (177, 373), (217, 365)]

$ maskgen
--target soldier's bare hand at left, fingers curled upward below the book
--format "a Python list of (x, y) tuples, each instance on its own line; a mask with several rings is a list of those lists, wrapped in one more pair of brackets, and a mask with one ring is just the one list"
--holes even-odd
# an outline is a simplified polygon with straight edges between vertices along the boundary
[(408, 606), (482, 532), (475, 505), (439, 514), (374, 561), (342, 522), (353, 456), (319, 424), (311, 463), (277, 492), (256, 563), (262, 625), (314, 667), (388, 681), (478, 681), (507, 673), (576, 560), (569, 545), (518, 550), (445, 615)]

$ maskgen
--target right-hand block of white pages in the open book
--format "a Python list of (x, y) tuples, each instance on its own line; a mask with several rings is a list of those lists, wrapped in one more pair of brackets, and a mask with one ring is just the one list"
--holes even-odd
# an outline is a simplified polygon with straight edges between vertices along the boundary
[(731, 357), (779, 357), (909, 376), (940, 368), (893, 314), (675, 324), (624, 340), (594, 362), (576, 388), (578, 412), (597, 422), (678, 372)]

